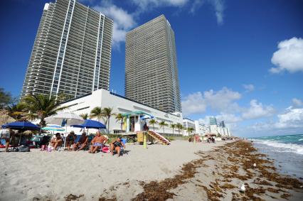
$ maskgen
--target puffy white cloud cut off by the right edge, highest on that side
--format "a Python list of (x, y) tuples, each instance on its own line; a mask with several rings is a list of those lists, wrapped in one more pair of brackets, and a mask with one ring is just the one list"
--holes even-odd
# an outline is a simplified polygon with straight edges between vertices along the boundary
[(279, 73), (303, 72), (303, 39), (291, 38), (278, 44), (278, 50), (272, 55), (272, 63), (277, 67), (270, 68), (270, 72)]

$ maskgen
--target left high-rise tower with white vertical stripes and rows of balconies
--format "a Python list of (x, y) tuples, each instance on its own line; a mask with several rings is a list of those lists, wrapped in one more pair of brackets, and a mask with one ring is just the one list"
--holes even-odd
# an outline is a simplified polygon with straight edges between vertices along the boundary
[(113, 21), (75, 0), (44, 6), (21, 97), (109, 89)]

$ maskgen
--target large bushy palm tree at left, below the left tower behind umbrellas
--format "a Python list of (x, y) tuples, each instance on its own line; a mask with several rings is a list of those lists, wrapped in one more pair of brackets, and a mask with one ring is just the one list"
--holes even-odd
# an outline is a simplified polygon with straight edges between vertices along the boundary
[(60, 97), (44, 94), (31, 94), (21, 100), (21, 106), (29, 119), (40, 119), (40, 126), (46, 126), (46, 117), (57, 114), (68, 106), (60, 107)]

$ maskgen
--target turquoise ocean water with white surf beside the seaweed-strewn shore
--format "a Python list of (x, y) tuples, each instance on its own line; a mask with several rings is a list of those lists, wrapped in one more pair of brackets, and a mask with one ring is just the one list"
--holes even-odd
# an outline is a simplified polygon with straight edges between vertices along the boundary
[(303, 134), (250, 138), (255, 148), (275, 160), (280, 173), (303, 180)]

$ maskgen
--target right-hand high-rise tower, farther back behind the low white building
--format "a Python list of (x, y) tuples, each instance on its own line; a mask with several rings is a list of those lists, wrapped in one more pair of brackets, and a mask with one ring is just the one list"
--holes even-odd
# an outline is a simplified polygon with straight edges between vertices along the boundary
[(125, 96), (165, 112), (181, 112), (174, 31), (164, 15), (129, 31)]

